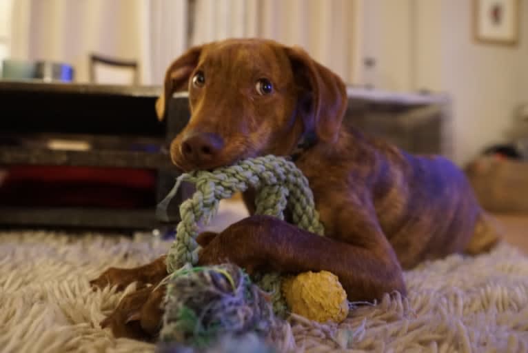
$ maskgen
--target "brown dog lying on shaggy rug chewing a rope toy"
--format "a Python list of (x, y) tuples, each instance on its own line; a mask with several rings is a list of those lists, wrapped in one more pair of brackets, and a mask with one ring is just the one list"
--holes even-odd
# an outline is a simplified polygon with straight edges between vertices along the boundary
[[(350, 300), (371, 301), (395, 290), (405, 294), (402, 268), (453, 252), (474, 254), (498, 239), (451, 162), (414, 157), (345, 129), (343, 81), (303, 50), (259, 39), (192, 48), (167, 70), (156, 103), (160, 118), (172, 94), (187, 88), (192, 117), (172, 142), (174, 164), (187, 171), (264, 154), (294, 155), (327, 234), (250, 216), (221, 234), (201, 235), (201, 265), (328, 270)], [(252, 192), (244, 199), (253, 210)], [(110, 269), (92, 284), (157, 283), (165, 275), (159, 259), (143, 268)], [(159, 292), (132, 294), (105, 324), (119, 335), (155, 334), (160, 300)]]

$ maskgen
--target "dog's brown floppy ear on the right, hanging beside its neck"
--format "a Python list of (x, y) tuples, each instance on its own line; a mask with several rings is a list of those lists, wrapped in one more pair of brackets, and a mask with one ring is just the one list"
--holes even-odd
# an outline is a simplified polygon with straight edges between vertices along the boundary
[(298, 88), (298, 113), (305, 132), (315, 132), (320, 141), (336, 141), (347, 108), (345, 83), (301, 48), (285, 50)]

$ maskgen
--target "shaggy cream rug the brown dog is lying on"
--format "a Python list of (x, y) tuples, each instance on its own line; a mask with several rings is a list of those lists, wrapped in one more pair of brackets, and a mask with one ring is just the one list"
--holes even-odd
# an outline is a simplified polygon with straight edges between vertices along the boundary
[[(92, 292), (88, 280), (110, 266), (144, 264), (167, 246), (108, 234), (0, 232), (0, 351), (152, 352), (152, 344), (101, 330), (123, 293)], [(341, 325), (292, 318), (278, 349), (528, 351), (528, 258), (511, 246), (424, 263), (405, 279), (407, 299), (363, 305)]]

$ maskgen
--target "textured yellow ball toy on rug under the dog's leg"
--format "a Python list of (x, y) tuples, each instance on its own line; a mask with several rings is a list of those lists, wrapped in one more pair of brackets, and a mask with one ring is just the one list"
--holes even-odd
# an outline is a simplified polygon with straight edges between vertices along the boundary
[(347, 292), (335, 274), (303, 272), (283, 279), (286, 303), (295, 314), (325, 323), (340, 323), (348, 315)]

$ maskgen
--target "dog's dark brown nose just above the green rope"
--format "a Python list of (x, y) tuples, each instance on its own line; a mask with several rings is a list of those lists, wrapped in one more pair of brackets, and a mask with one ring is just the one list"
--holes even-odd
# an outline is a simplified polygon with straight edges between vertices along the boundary
[(190, 163), (214, 161), (223, 148), (223, 139), (212, 132), (192, 132), (181, 143), (181, 154)]

